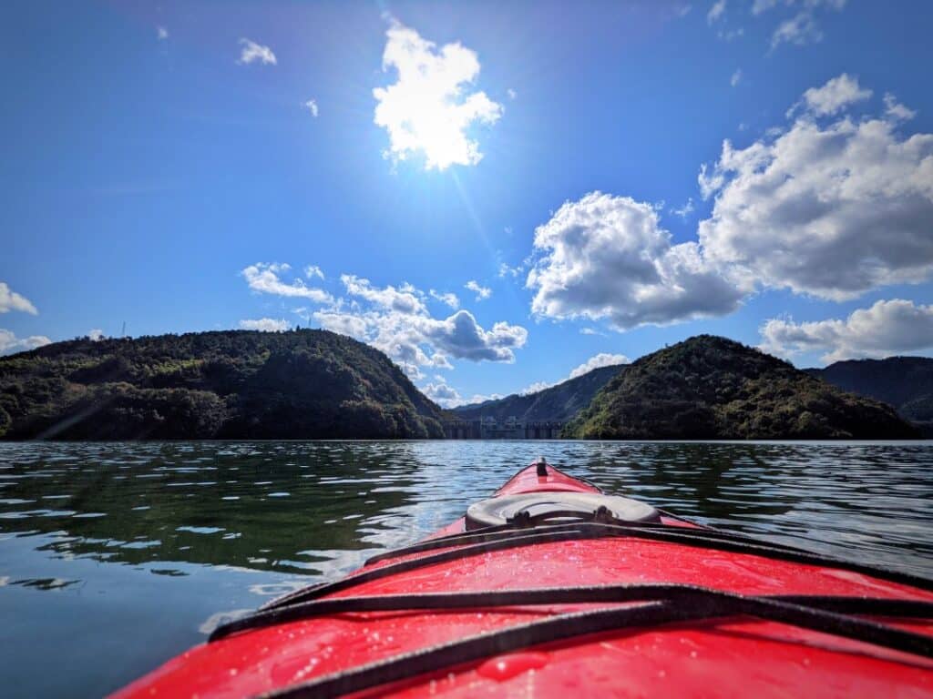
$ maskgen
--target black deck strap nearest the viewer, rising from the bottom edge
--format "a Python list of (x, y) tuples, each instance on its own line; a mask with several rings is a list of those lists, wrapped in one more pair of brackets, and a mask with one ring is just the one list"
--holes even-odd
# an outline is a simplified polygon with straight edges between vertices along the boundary
[[(668, 592), (673, 592), (673, 589), (669, 589)], [(842, 604), (838, 598), (833, 603)], [(855, 601), (846, 604), (849, 603), (858, 604)], [(793, 601), (741, 596), (704, 588), (689, 588), (689, 590), (682, 590), (681, 596), (675, 599), (650, 601), (635, 607), (558, 614), (528, 624), (508, 626), (314, 678), (262, 696), (269, 699), (273, 697), (275, 699), (335, 697), (552, 641), (635, 626), (654, 627), (659, 624), (736, 616), (799, 626), (894, 651), (908, 652), (926, 658), (933, 657), (933, 638), (922, 634), (902, 631), (835, 611), (804, 606)]]

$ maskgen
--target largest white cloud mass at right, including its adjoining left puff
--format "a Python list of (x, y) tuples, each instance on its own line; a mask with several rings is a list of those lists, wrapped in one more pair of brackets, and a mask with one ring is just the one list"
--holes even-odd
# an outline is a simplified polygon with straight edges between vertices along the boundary
[(843, 74), (808, 90), (784, 128), (744, 149), (725, 141), (700, 171), (715, 201), (698, 242), (673, 244), (645, 202), (564, 203), (535, 231), (533, 313), (626, 330), (725, 314), (764, 288), (842, 301), (929, 280), (933, 135), (900, 134), (912, 112), (892, 96), (883, 117), (845, 115), (869, 96)]

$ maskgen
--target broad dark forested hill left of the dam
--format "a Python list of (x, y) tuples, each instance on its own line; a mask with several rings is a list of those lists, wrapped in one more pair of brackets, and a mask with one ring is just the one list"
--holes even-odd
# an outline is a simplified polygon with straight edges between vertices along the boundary
[(441, 437), (378, 349), (324, 330), (58, 342), (0, 357), (5, 439)]

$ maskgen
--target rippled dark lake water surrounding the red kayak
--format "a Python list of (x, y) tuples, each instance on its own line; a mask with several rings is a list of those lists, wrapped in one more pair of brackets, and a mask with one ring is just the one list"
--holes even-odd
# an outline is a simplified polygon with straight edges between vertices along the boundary
[(99, 696), (424, 537), (545, 454), (697, 521), (933, 576), (933, 443), (0, 443), (6, 696)]

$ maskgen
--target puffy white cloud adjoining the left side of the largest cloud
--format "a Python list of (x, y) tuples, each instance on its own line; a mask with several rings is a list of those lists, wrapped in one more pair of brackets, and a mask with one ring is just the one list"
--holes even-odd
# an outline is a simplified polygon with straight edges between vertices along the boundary
[(694, 242), (672, 244), (658, 212), (629, 197), (592, 192), (535, 230), (532, 312), (606, 319), (617, 330), (737, 308), (741, 293), (709, 267)]

